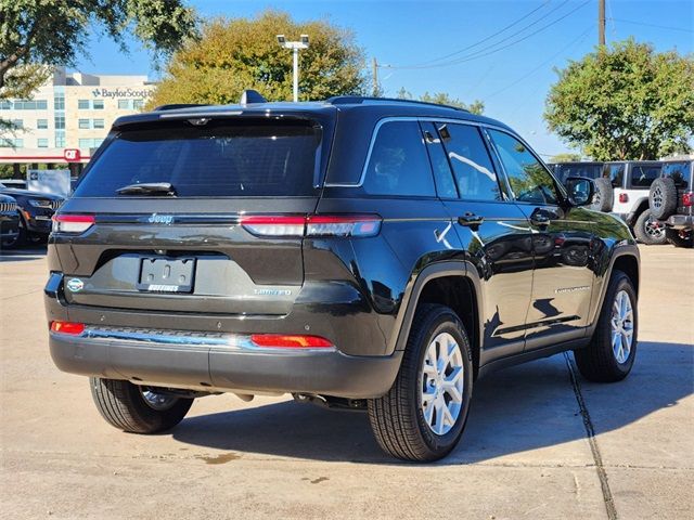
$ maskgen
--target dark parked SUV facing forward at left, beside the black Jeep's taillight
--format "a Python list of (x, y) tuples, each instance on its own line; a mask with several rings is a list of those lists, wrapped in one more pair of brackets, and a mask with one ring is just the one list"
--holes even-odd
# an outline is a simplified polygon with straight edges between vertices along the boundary
[(10, 195), (20, 209), (20, 235), (13, 247), (24, 242), (41, 242), (51, 232), (51, 218), (63, 204), (63, 198), (50, 193), (8, 187), (0, 183), (0, 194)]

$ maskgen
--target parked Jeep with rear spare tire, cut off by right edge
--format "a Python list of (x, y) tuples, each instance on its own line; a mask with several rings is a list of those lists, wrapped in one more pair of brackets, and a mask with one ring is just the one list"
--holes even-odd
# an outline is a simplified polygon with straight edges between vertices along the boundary
[(651, 185), (648, 203), (653, 217), (665, 226), (666, 238), (680, 247), (694, 244), (694, 161), (668, 160)]

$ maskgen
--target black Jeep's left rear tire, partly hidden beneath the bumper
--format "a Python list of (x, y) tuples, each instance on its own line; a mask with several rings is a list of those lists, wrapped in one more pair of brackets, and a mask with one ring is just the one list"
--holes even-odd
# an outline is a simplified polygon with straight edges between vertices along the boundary
[(192, 399), (150, 392), (158, 404), (145, 399), (146, 387), (129, 381), (90, 377), (91, 395), (110, 425), (132, 433), (158, 433), (178, 425), (193, 404)]

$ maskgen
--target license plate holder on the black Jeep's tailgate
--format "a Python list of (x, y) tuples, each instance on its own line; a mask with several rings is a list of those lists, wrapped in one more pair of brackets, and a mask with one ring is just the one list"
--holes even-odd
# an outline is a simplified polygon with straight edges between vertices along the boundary
[(147, 292), (192, 292), (195, 258), (143, 258), (138, 290)]

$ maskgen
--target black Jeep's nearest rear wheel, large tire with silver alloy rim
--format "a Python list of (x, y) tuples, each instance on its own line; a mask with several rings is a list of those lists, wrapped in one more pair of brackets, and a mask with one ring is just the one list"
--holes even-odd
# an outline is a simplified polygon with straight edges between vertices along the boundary
[[(451, 365), (457, 365), (458, 373), (462, 373), (462, 381), (458, 378), (455, 384), (461, 398), (458, 406), (450, 405), (454, 402), (450, 390), (441, 391), (445, 388), (444, 380), (436, 381), (438, 388), (430, 382), (441, 377), (441, 373), (436, 374), (434, 365), (429, 364), (433, 359), (429, 354), (434, 352), (438, 361), (442, 344), (448, 344), (452, 352), (442, 376), (452, 376)], [(430, 369), (425, 370), (425, 366)], [(451, 381), (448, 382), (450, 389)], [(428, 406), (423, 404), (425, 388), (432, 399)], [(463, 433), (472, 392), (472, 354), (463, 324), (447, 307), (421, 306), (414, 315), (400, 372), (393, 387), (384, 396), (368, 401), (369, 420), (376, 441), (386, 453), (403, 460), (430, 461), (445, 457), (455, 447)], [(439, 408), (441, 403), (444, 406)], [(441, 412), (439, 417), (438, 410), (444, 408), (449, 415)], [(432, 411), (427, 413), (428, 421), (424, 410)], [(448, 419), (449, 424), (446, 425), (444, 419)], [(435, 432), (435, 429), (439, 432)]]

